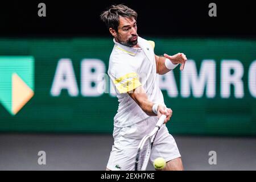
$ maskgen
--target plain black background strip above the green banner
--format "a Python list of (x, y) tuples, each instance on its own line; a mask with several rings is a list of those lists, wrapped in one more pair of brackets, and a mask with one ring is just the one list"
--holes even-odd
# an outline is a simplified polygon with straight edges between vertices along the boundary
[[(46, 3), (46, 17), (38, 4)], [(209, 17), (209, 3), (217, 17)], [(123, 3), (138, 13), (143, 36), (256, 38), (253, 1), (6, 1), (0, 3), (0, 36), (109, 36), (100, 14)]]

